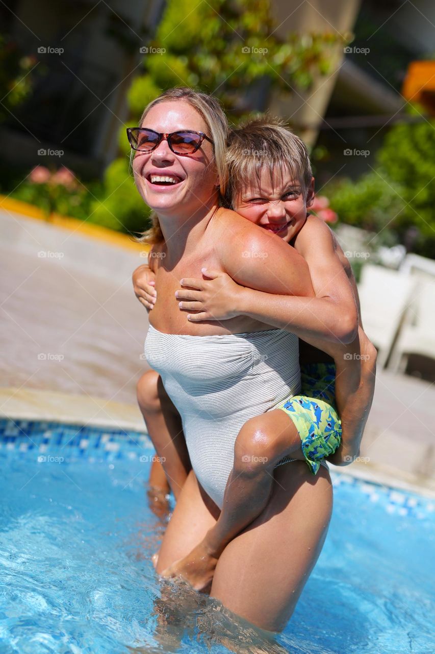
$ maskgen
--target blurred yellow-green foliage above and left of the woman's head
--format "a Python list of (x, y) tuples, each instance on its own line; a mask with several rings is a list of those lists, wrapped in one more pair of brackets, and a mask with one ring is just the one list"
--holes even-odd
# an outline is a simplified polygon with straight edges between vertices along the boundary
[[(253, 109), (252, 97), (266, 100), (271, 90), (291, 93), (310, 88), (330, 69), (336, 34), (274, 33), (270, 0), (169, 0), (152, 43), (144, 45), (143, 72), (133, 80), (129, 124), (138, 124), (144, 107), (162, 91), (189, 86), (216, 95), (232, 122)], [(93, 218), (123, 231), (142, 231), (149, 211), (134, 188), (129, 154), (105, 174), (105, 199)]]

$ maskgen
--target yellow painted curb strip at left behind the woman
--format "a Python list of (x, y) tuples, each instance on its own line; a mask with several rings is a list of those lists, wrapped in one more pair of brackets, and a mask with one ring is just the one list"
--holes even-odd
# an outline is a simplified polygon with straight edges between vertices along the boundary
[(39, 207), (35, 207), (27, 202), (22, 202), (21, 200), (8, 198), (7, 196), (0, 195), (0, 209), (20, 213), (27, 218), (42, 220), (43, 222), (54, 225), (55, 227), (60, 227), (63, 230), (68, 230), (69, 232), (80, 232), (91, 239), (103, 241), (126, 250), (135, 250), (136, 252), (148, 252), (150, 250), (148, 244), (137, 243), (137, 241), (133, 240), (132, 236), (109, 230), (101, 225), (94, 225), (85, 220), (78, 220), (78, 218), (70, 218), (69, 216), (61, 216), (54, 213), (50, 216), (50, 220), (48, 221), (46, 214), (42, 209), (39, 209)]

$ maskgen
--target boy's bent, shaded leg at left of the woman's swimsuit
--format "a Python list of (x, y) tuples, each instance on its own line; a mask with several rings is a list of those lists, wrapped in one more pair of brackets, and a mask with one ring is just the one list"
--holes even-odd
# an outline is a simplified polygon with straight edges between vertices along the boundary
[[(167, 492), (169, 482), (177, 500), (191, 470), (180, 414), (167, 395), (160, 375), (154, 370), (148, 370), (140, 377), (137, 383), (137, 400), (148, 434), (161, 460), (161, 464), (159, 461), (153, 462), (150, 490), (153, 492), (154, 489), (161, 489), (161, 492)], [(163, 466), (166, 483), (162, 468), (159, 470), (158, 466)]]

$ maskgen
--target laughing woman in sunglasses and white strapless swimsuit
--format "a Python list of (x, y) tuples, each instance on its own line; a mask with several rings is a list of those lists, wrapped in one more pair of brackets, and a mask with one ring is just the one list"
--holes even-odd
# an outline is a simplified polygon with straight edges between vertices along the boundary
[[(188, 322), (174, 296), (180, 280), (200, 277), (207, 266), (269, 293), (312, 297), (313, 290), (295, 250), (272, 234), (265, 241), (260, 228), (219, 208), (218, 187), (226, 184), (226, 122), (216, 101), (172, 90), (147, 107), (140, 124), (133, 135), (138, 148), (133, 171), (165, 238), (154, 252), (160, 256), (152, 258), (158, 299), (146, 354), (182, 416), (193, 465), (163, 539), (161, 572), (216, 522), (219, 507), (211, 495), (219, 496), (219, 471), (228, 458), (232, 467), (240, 426), (296, 392), (299, 375), (294, 334), (246, 317), (223, 324)], [(223, 551), (210, 591), (234, 613), (270, 631), (282, 630), (288, 621), (332, 509), (326, 468), (313, 479), (303, 462), (294, 461), (277, 468), (274, 477), (266, 508)]]

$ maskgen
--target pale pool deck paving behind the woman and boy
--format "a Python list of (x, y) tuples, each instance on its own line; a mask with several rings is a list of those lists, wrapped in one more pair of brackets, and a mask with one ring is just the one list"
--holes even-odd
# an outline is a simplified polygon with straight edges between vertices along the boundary
[[(131, 286), (144, 249), (78, 227), (0, 209), (0, 415), (145, 431), (148, 319)], [(434, 424), (434, 384), (379, 371), (361, 460), (331, 468), (435, 496)]]

